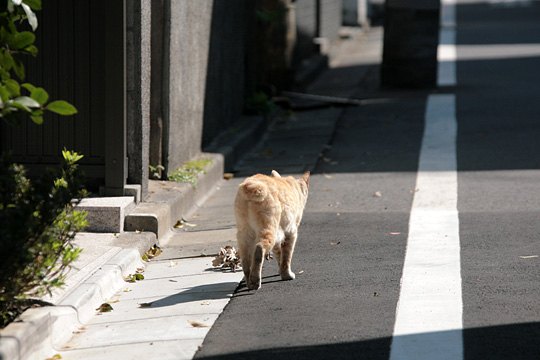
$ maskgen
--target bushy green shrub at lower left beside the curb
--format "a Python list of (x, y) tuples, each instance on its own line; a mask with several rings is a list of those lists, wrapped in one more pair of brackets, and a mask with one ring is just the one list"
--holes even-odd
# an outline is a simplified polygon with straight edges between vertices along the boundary
[(6, 156), (0, 164), (0, 327), (31, 304), (28, 299), (63, 285), (80, 252), (72, 243), (86, 226), (74, 209), (85, 195), (77, 165), (82, 156), (63, 151), (64, 163), (31, 181)]

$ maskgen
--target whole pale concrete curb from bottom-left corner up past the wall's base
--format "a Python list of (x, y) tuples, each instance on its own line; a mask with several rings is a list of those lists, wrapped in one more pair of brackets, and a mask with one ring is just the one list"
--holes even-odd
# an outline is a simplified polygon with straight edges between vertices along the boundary
[(125, 230), (137, 230), (137, 235), (118, 234), (109, 244), (109, 251), (79, 269), (65, 292), (56, 294), (56, 306), (28, 309), (16, 322), (0, 330), (0, 360), (51, 356), (95, 316), (96, 308), (125, 286), (124, 277), (144, 267), (141, 255), (157, 242), (157, 235), (163, 236), (176, 220), (204, 202), (222, 179), (223, 156), (203, 153), (201, 157), (212, 159), (212, 165), (199, 176), (196, 187), (151, 182), (154, 192), (148, 202), (140, 203), (126, 216)]

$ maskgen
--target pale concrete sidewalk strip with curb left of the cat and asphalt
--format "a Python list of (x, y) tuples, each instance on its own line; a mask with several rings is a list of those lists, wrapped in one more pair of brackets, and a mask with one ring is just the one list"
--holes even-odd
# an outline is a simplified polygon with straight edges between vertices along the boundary
[[(380, 61), (381, 38), (382, 29), (353, 33), (338, 48), (333, 67), (304, 92), (353, 97)], [(232, 204), (243, 176), (272, 169), (300, 173), (325, 161), (343, 107), (301, 96), (291, 100), (297, 110), (273, 121), (235, 165), (236, 178), (218, 181), (204, 203), (171, 215), (188, 224), (172, 227), (171, 218), (165, 235), (159, 229), (163, 252), (156, 258), (141, 261), (156, 242), (154, 233), (79, 235), (85, 250), (69, 286), (48, 299), (56, 306), (30, 309), (23, 323), (0, 332), (0, 359), (191, 359), (243, 276), (211, 264), (220, 247), (236, 243)], [(136, 273), (144, 280), (124, 280)], [(97, 310), (104, 303), (112, 311)]]

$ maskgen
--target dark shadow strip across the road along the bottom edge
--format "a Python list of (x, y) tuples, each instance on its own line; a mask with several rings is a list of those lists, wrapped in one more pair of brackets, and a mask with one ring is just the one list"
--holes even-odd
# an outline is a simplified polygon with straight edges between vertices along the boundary
[[(459, 336), (454, 331), (436, 332), (399, 337), (401, 343), (412, 346), (418, 359), (441, 358), (445, 339)], [(377, 359), (387, 360), (390, 356), (392, 339), (389, 337), (356, 342), (343, 342), (313, 346), (278, 347), (246, 352), (230, 351), (227, 354), (195, 356), (196, 359)], [(520, 359), (536, 360), (540, 351), (540, 323), (522, 323), (465, 329), (463, 331), (464, 359)], [(424, 353), (426, 349), (435, 353)], [(456, 349), (447, 349), (448, 351)], [(204, 352), (204, 348), (203, 348)], [(456, 350), (457, 354), (461, 349)], [(461, 357), (456, 357), (461, 358)]]

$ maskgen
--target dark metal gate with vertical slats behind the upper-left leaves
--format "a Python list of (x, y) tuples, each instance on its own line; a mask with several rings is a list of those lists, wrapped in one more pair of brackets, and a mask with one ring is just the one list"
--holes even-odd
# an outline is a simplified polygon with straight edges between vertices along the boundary
[[(42, 125), (27, 121), (11, 127), (1, 123), (2, 152), (11, 151), (15, 161), (39, 171), (58, 164), (65, 147), (84, 155), (81, 166), (90, 187), (123, 188), (124, 17), (121, 0), (43, 3), (36, 32), (39, 55), (28, 61), (27, 80), (43, 86), (51, 100), (71, 102), (78, 114), (47, 114)], [(108, 163), (112, 169), (107, 170)], [(111, 170), (117, 174), (108, 176)]]

